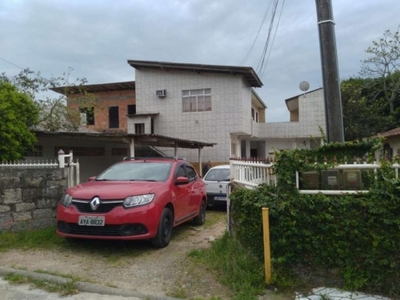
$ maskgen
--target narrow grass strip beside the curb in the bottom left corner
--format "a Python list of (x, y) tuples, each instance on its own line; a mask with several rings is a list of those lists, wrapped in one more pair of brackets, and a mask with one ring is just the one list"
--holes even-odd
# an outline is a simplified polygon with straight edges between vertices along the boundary
[(58, 293), (61, 296), (75, 295), (79, 293), (78, 289), (74, 285), (74, 282), (57, 284), (44, 280), (33, 279), (31, 277), (17, 275), (14, 273), (6, 274), (6, 276), (4, 276), (4, 279), (9, 281), (11, 284), (30, 284), (35, 288), (42, 289), (50, 293)]

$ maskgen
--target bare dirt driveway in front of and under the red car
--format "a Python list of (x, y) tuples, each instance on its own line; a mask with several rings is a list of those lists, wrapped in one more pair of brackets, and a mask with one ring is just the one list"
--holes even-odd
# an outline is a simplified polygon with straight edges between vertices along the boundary
[[(210, 241), (226, 230), (225, 213), (213, 212), (214, 224), (194, 227), (179, 226), (164, 249), (155, 249), (149, 243), (132, 242), (119, 255), (118, 247), (107, 248), (99, 243), (98, 251), (88, 251), (75, 241), (76, 247), (57, 250), (10, 250), (0, 253), (0, 265), (29, 271), (43, 271), (78, 277), (92, 283), (134, 290), (155, 296), (170, 296), (182, 299), (197, 297), (229, 299), (231, 292), (211, 272), (200, 269), (188, 258), (194, 249), (210, 246)], [(215, 216), (217, 214), (217, 216)], [(126, 248), (132, 254), (126, 254)], [(93, 249), (93, 244), (90, 249)], [(85, 251), (83, 251), (84, 249)]]

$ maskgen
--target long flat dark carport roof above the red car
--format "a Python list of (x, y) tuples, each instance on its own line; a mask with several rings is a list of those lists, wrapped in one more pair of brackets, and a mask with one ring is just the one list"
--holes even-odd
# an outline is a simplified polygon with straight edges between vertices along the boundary
[(213, 147), (216, 143), (205, 143), (193, 140), (179, 139), (158, 134), (129, 134), (129, 133), (115, 133), (115, 132), (96, 132), (96, 131), (86, 131), (86, 132), (68, 132), (68, 131), (35, 131), (39, 135), (53, 135), (57, 137), (76, 137), (80, 138), (97, 138), (104, 141), (113, 142), (126, 142), (127, 139), (134, 138), (135, 144), (138, 145), (149, 145), (157, 147), (178, 147), (178, 148), (189, 148), (189, 149), (199, 149), (204, 147)]

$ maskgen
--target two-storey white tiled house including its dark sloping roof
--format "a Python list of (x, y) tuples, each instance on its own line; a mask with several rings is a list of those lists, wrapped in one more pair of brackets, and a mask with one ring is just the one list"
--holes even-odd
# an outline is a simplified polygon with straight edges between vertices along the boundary
[[(128, 63), (136, 69), (136, 115), (129, 116), (128, 132), (217, 143), (203, 152), (203, 161), (214, 164), (227, 163), (232, 156), (265, 158), (274, 150), (321, 143), (322, 89), (286, 100), (290, 122), (265, 123), (266, 105), (254, 90), (262, 82), (251, 67)], [(186, 150), (184, 156), (195, 161), (197, 153)]]

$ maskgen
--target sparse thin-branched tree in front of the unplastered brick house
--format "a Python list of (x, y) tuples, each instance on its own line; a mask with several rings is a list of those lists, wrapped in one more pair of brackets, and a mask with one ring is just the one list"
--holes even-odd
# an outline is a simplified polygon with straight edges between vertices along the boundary
[[(59, 77), (43, 77), (40, 72), (24, 69), (13, 77), (8, 77), (5, 73), (0, 75), (0, 80), (10, 82), (15, 85), (22, 93), (26, 94), (39, 108), (39, 118), (37, 124), (32, 129), (46, 131), (75, 131), (79, 127), (79, 110), (71, 109), (67, 106), (65, 95), (68, 89), (77, 87), (80, 97), (76, 101), (80, 107), (93, 107), (93, 97), (90, 97), (83, 88), (87, 83), (85, 78), (77, 78), (70, 83), (72, 69), (63, 73)], [(51, 88), (65, 87), (64, 95), (56, 94)]]

